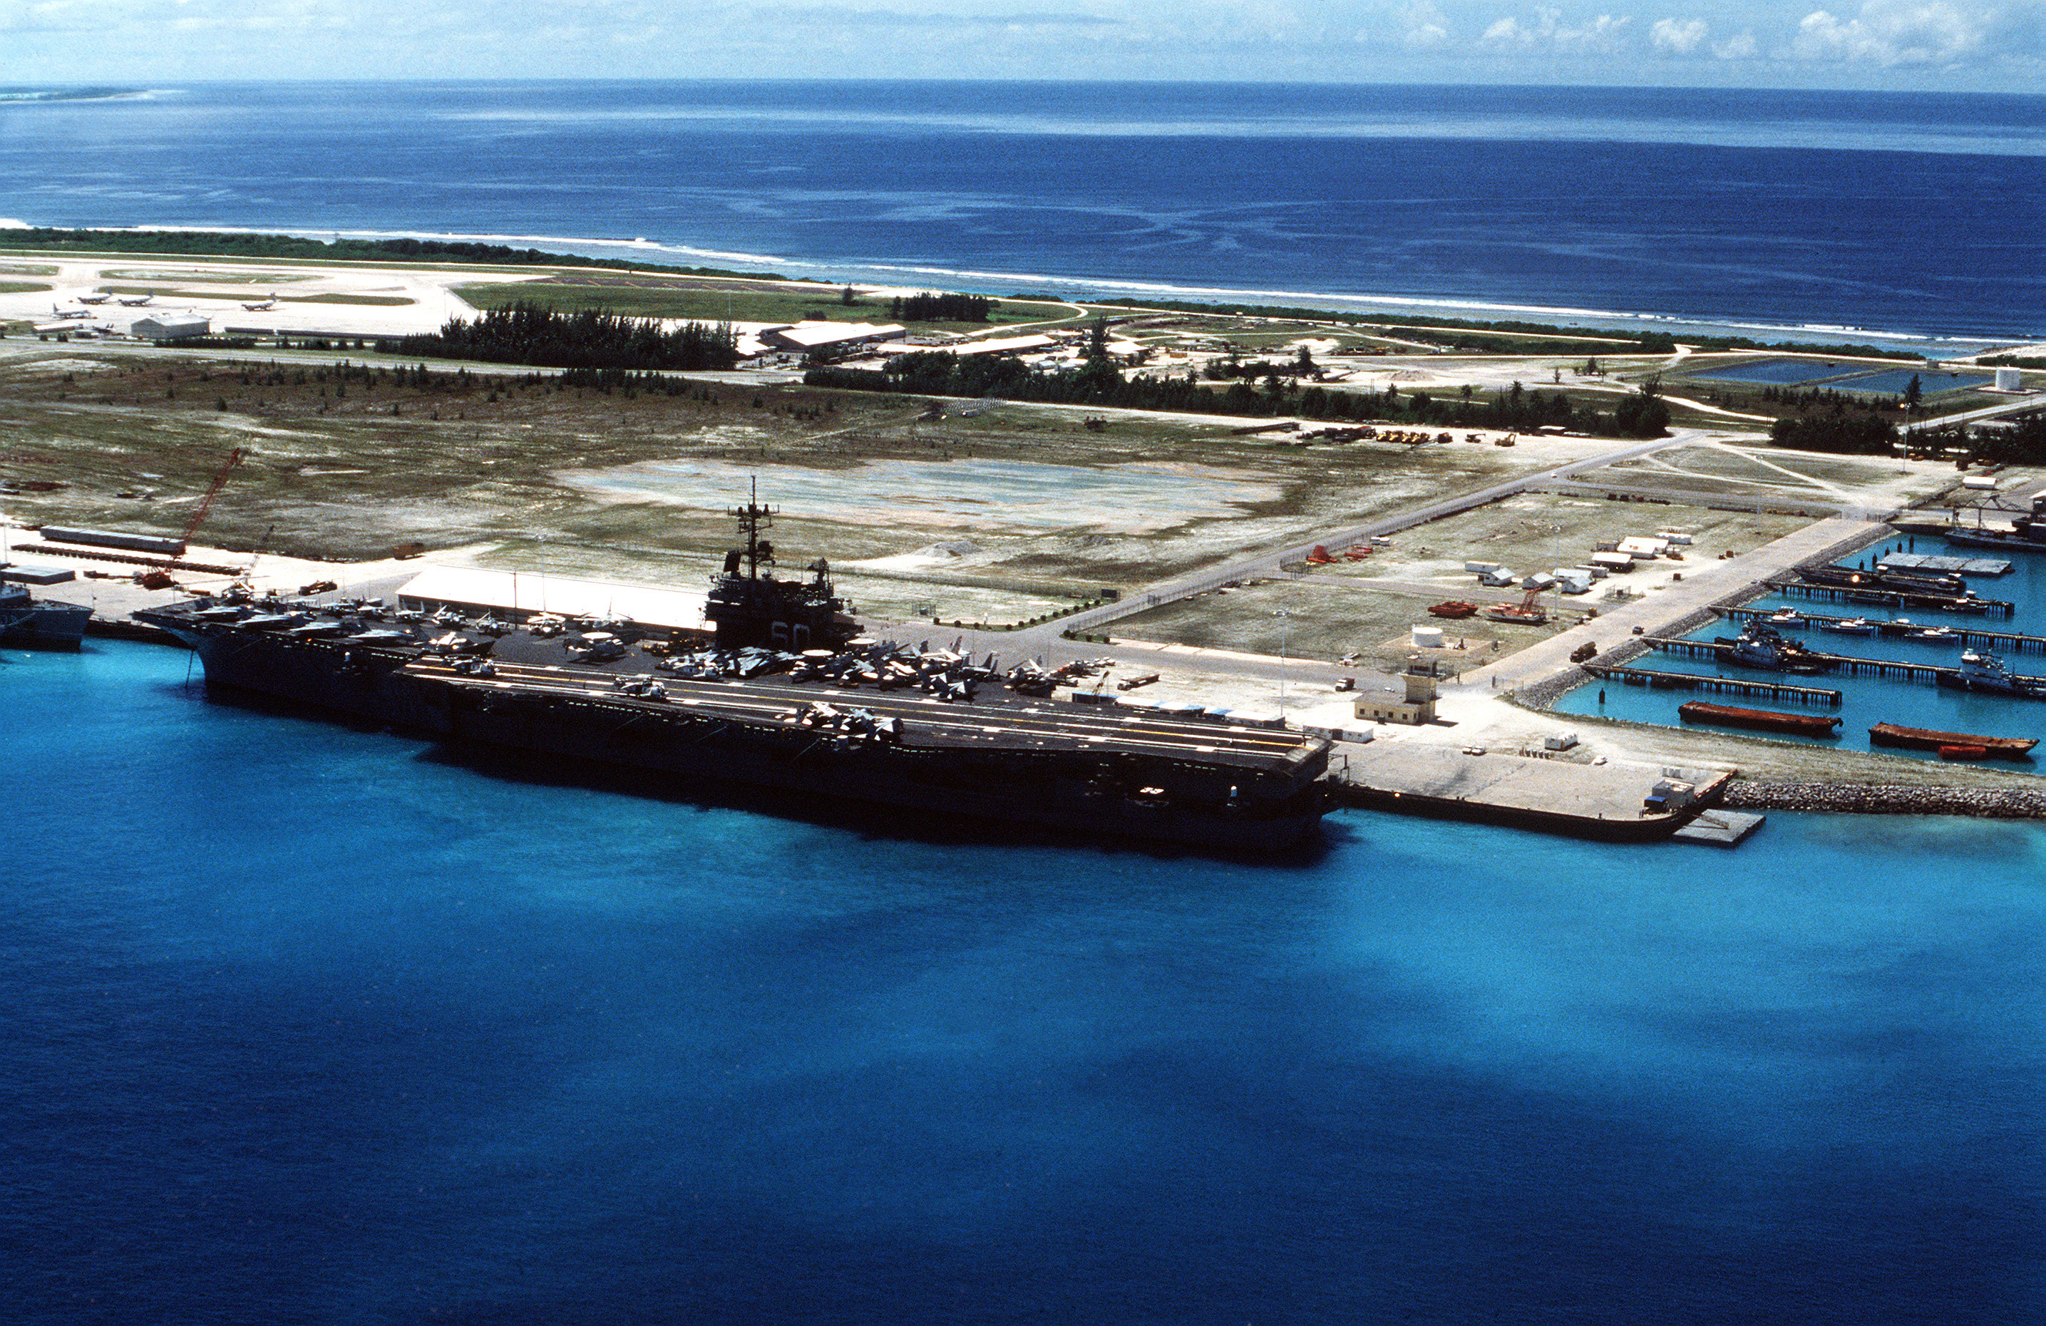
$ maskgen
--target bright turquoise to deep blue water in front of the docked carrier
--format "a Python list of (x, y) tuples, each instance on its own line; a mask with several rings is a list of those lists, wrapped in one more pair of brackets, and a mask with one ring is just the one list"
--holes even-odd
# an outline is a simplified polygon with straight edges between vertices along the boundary
[(1240, 864), (763, 814), (0, 655), (0, 1310), (2046, 1312), (2046, 833)]

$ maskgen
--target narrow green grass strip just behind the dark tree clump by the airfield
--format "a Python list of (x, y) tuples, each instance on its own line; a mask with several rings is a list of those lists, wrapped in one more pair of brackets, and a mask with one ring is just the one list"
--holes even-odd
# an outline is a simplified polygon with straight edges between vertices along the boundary
[[(708, 282), (706, 282), (708, 284)], [(503, 309), (520, 301), (546, 305), (548, 309), (575, 313), (581, 309), (610, 309), (632, 317), (687, 317), (694, 321), (751, 321), (751, 323), (792, 323), (804, 313), (825, 313), (833, 321), (890, 321), (886, 299), (857, 299), (851, 305), (839, 301), (839, 291), (825, 286), (818, 293), (761, 291), (761, 289), (683, 289), (681, 282), (661, 286), (636, 284), (579, 284), (561, 280), (520, 280), (520, 282), (479, 282), (454, 286), (454, 293), (479, 309)], [(1082, 315), (1066, 305), (1021, 303), (1003, 299), (994, 305), (986, 323), (908, 323), (917, 329), (964, 332), (1000, 323), (1064, 319)]]

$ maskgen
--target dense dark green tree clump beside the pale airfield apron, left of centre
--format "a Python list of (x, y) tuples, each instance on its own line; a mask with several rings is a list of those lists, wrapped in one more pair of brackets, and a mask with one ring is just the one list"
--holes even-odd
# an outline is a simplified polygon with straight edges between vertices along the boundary
[(376, 342), (387, 354), (466, 358), (548, 368), (730, 368), (739, 362), (732, 329), (683, 323), (673, 332), (655, 317), (604, 309), (557, 313), (532, 301), (448, 319), (440, 332)]

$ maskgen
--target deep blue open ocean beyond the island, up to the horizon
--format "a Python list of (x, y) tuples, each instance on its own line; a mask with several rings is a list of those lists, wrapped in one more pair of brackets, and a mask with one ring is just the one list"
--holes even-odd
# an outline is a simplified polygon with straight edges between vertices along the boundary
[(0, 217), (1966, 342), (2046, 334), (2042, 158), (2046, 96), (198, 84), (0, 100)]

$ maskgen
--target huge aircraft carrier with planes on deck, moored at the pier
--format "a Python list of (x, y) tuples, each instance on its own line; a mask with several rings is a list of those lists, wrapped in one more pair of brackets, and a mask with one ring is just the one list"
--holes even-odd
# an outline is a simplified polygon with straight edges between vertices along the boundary
[(747, 544), (712, 577), (716, 638), (702, 645), (360, 600), (203, 598), (135, 616), (190, 645), (209, 686), (448, 741), (1224, 849), (1285, 847), (1320, 825), (1328, 741), (1113, 694), (1064, 700), (1029, 663), (865, 640), (822, 561), (808, 579), (773, 575), (769, 507), (735, 514)]

